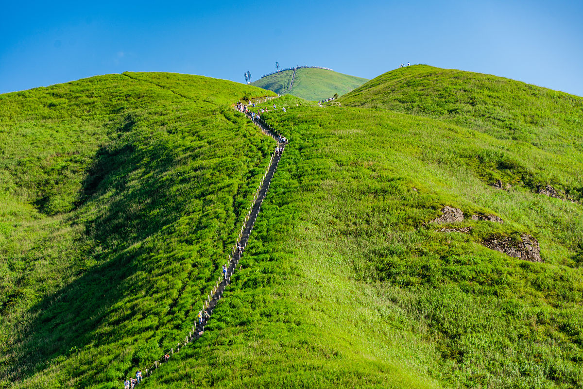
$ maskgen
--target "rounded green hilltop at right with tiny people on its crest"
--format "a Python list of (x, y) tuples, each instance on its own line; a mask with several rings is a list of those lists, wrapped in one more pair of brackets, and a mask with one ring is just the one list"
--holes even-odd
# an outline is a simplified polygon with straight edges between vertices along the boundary
[(406, 66), (370, 80), (340, 101), (439, 118), (552, 153), (583, 150), (583, 98), (503, 77)]

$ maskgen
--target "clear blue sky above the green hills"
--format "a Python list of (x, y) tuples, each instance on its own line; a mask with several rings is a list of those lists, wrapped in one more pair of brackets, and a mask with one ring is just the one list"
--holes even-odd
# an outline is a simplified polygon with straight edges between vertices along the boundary
[(583, 96), (583, 1), (2, 2), (0, 93), (129, 71), (244, 82), (427, 63)]

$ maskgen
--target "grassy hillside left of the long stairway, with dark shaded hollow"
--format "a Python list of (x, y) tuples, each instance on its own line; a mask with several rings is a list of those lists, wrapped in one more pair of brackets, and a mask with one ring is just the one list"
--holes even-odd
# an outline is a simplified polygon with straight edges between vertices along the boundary
[(273, 147), (230, 105), (265, 94), (124, 73), (0, 96), (0, 387), (119, 387), (184, 340)]

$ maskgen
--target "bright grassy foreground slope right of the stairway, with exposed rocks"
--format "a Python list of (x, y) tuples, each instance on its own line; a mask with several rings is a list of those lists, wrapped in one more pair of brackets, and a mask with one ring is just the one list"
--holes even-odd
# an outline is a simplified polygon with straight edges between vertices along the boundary
[[(262, 116), (290, 144), (243, 271), (199, 345), (147, 387), (583, 385), (583, 208), (484, 181), (524, 167), (581, 186), (581, 155), (386, 109), (297, 103), (280, 98), (287, 112)], [(428, 224), (444, 206), (465, 220)], [(483, 245), (524, 234), (543, 263)]]

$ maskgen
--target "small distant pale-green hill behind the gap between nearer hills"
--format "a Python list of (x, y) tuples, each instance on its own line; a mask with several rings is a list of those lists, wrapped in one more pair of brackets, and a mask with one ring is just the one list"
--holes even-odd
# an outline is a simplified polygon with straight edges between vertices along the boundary
[(323, 100), (338, 94), (341, 96), (368, 80), (361, 77), (345, 75), (332, 70), (302, 68), (296, 70), (293, 84), (293, 70), (284, 70), (259, 79), (251, 84), (278, 94), (292, 94), (305, 100)]

